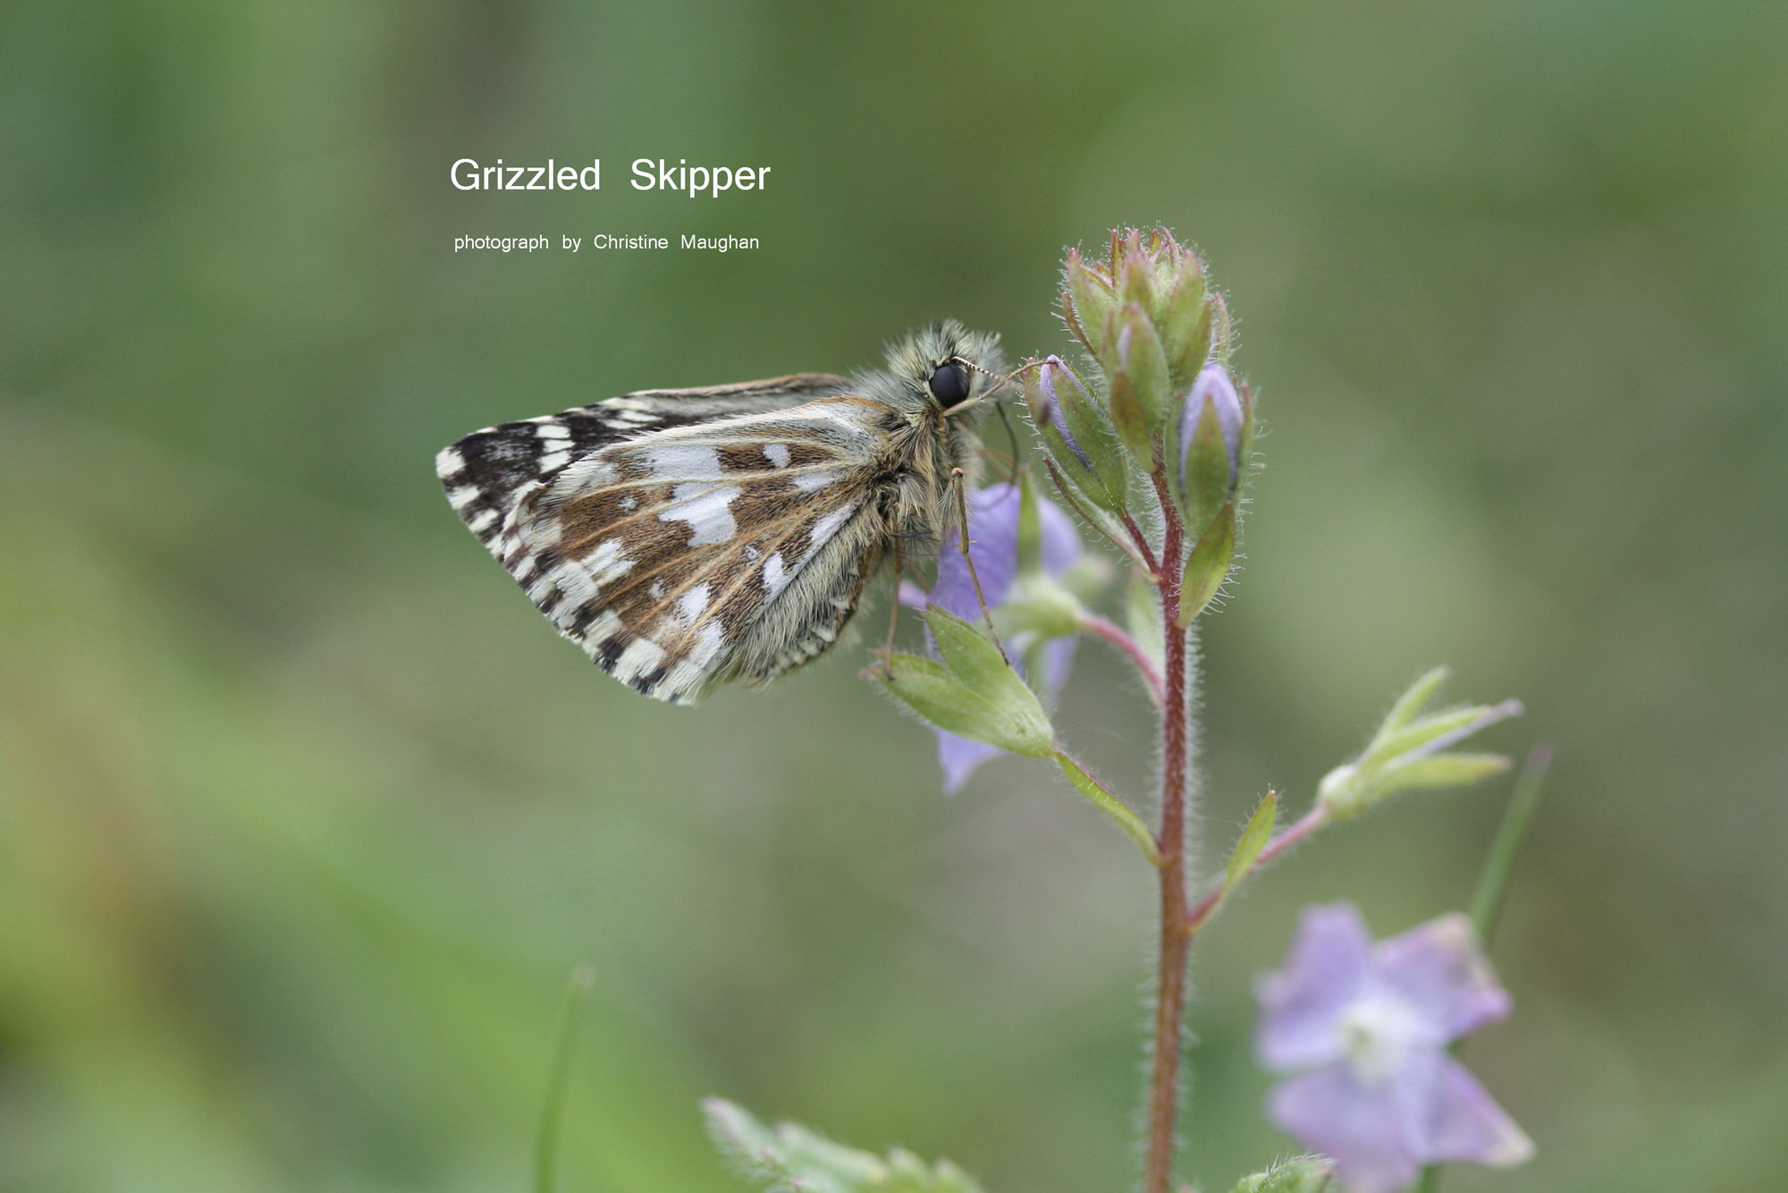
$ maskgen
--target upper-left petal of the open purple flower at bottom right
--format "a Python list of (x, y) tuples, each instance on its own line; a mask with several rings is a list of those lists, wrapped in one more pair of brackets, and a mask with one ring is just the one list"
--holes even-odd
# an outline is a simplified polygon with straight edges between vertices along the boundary
[(1286, 968), (1255, 982), (1261, 1062), (1293, 1070), (1339, 1059), (1345, 1050), (1339, 1020), (1364, 987), (1370, 959), (1371, 934), (1357, 907), (1303, 909)]

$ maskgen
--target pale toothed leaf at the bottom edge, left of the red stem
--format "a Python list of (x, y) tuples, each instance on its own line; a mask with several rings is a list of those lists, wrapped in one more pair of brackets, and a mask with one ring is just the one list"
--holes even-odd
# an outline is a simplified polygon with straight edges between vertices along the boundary
[(982, 1193), (982, 1186), (949, 1161), (926, 1164), (901, 1148), (887, 1157), (873, 1155), (799, 1123), (771, 1129), (721, 1098), (708, 1098), (701, 1109), (713, 1145), (767, 1193)]

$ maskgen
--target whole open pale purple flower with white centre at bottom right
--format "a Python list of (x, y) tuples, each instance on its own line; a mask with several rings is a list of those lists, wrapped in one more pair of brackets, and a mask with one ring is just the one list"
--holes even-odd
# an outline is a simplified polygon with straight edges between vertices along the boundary
[(1509, 1014), (1509, 994), (1454, 912), (1379, 944), (1352, 903), (1309, 907), (1286, 968), (1255, 984), (1261, 1062), (1291, 1071), (1268, 1116), (1332, 1155), (1355, 1193), (1386, 1193), (1423, 1164), (1507, 1168), (1532, 1141), (1446, 1045)]

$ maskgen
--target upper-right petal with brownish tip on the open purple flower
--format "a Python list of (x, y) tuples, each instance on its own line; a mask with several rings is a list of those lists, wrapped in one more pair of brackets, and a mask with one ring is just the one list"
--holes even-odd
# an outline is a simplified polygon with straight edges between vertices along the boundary
[(1380, 941), (1371, 962), (1380, 984), (1432, 1016), (1443, 1043), (1507, 1018), (1513, 1007), (1459, 912)]

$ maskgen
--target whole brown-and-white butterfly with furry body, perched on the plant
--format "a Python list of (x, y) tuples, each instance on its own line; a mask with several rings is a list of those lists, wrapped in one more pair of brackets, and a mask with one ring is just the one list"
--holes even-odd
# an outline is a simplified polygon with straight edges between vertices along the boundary
[(935, 547), (1001, 372), (944, 320), (883, 370), (624, 393), (474, 431), (436, 474), (563, 637), (687, 705), (819, 656), (883, 560)]

